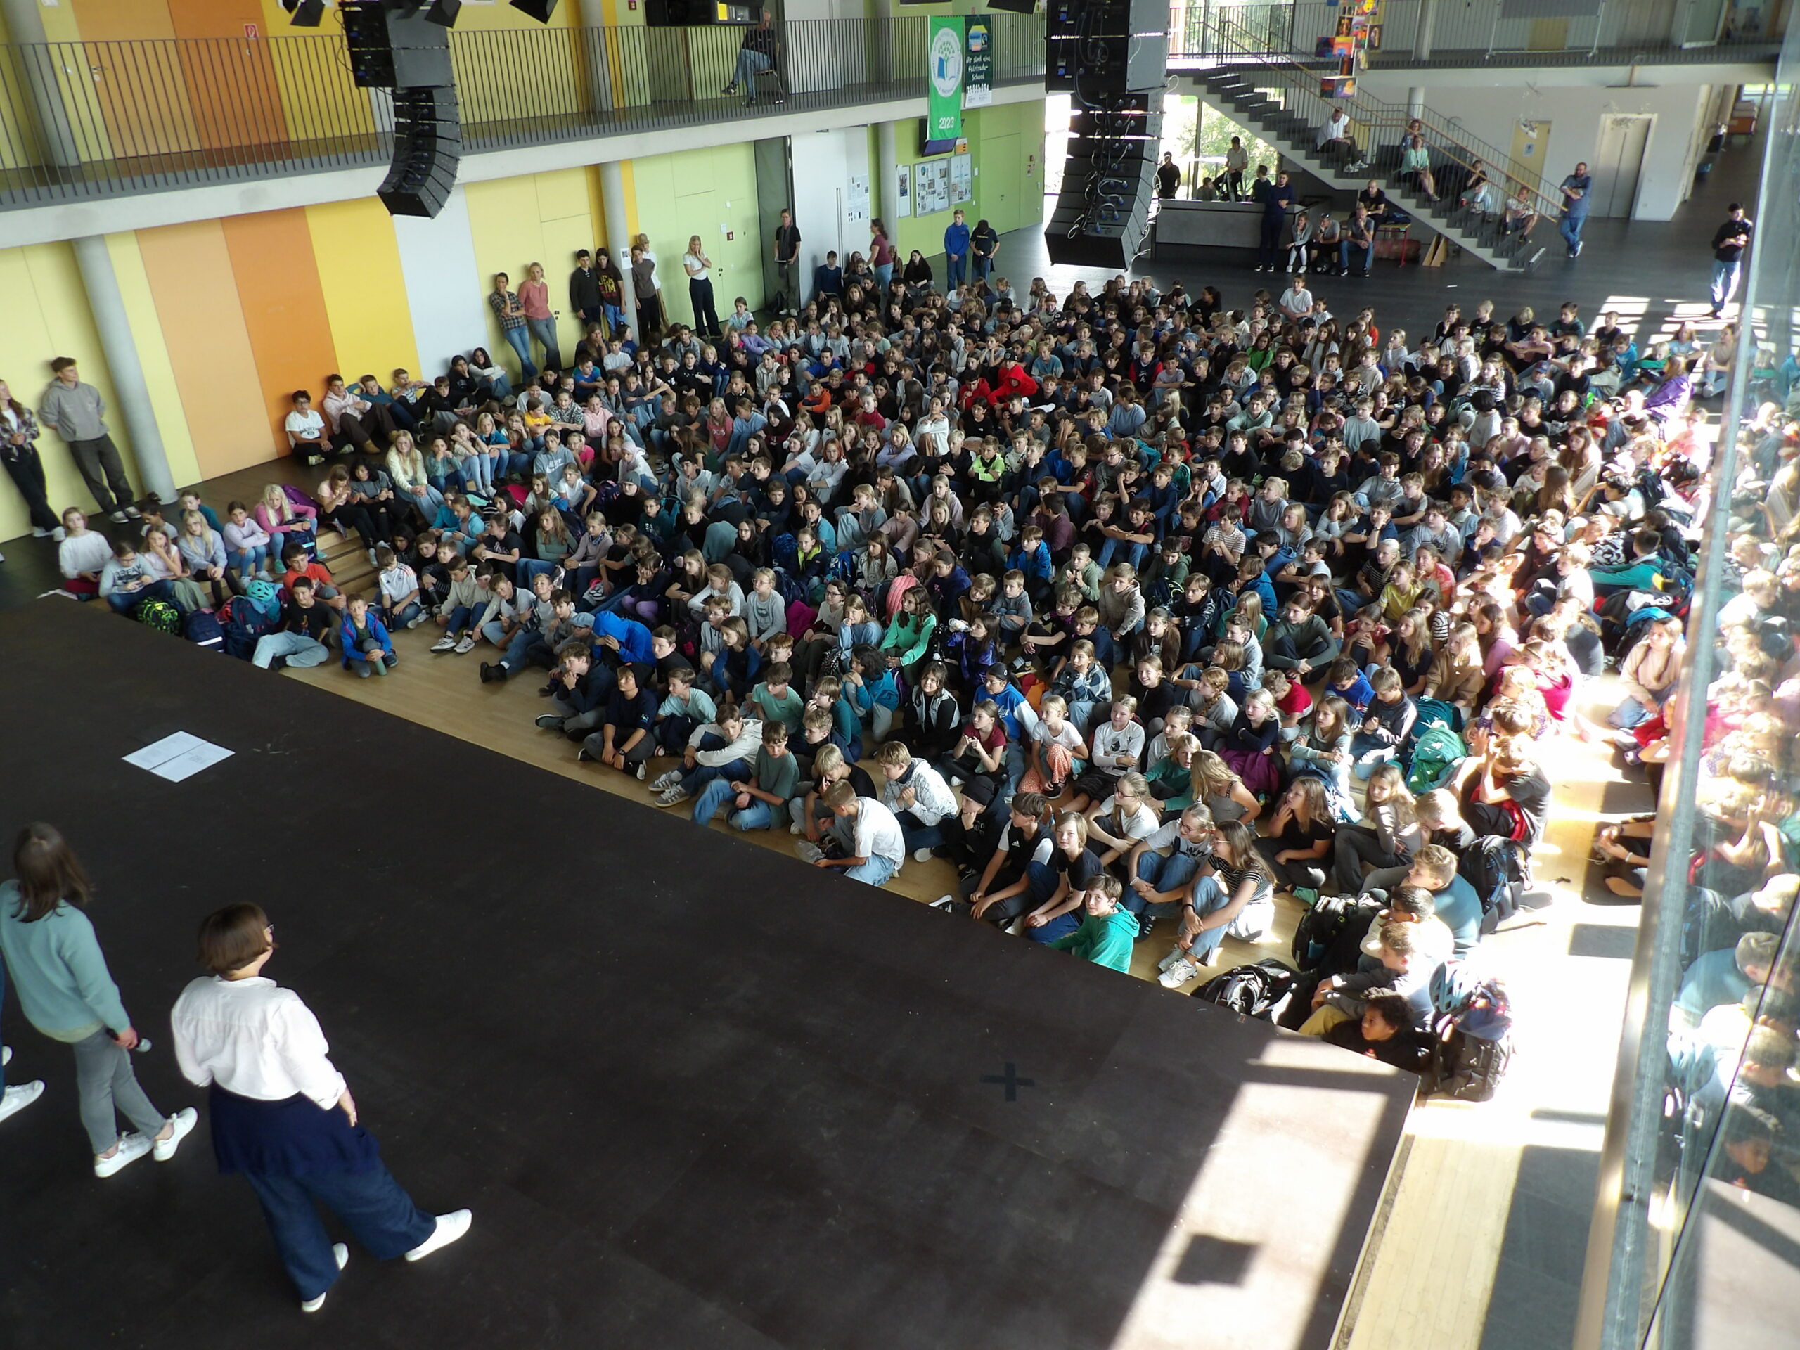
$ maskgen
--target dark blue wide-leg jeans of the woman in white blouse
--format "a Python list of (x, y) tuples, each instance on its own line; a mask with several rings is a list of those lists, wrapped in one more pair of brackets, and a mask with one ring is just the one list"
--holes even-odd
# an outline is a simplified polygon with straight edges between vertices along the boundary
[(419, 1210), (385, 1166), (374, 1172), (308, 1172), (299, 1177), (245, 1174), (263, 1202), (281, 1264), (302, 1300), (319, 1298), (338, 1278), (331, 1235), (319, 1206), (344, 1220), (376, 1260), (392, 1260), (425, 1242), (437, 1220)]

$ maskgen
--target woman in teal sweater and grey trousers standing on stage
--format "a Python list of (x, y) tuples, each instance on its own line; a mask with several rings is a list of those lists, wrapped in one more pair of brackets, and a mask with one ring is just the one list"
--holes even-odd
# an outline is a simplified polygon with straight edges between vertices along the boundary
[[(94, 887), (81, 860), (52, 826), (27, 824), (13, 848), (13, 873), (14, 880), (0, 884), (0, 952), (25, 1019), (76, 1051), (94, 1175), (110, 1177), (144, 1154), (167, 1163), (198, 1116), (193, 1107), (164, 1116), (137, 1085), (130, 1051), (139, 1035), (83, 913)], [(31, 1094), (22, 1098), (23, 1091)], [(25, 1084), (7, 1100), (23, 1105), (41, 1091), (41, 1082)], [(137, 1129), (121, 1134), (119, 1116)]]

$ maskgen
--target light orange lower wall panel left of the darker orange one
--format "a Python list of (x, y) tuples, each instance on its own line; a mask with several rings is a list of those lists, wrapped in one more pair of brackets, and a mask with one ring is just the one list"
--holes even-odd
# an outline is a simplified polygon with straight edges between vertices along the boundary
[[(139, 230), (137, 247), (200, 473), (211, 479), (268, 459), (268, 407), (223, 227), (202, 220)], [(270, 259), (270, 265), (279, 266), (283, 259)]]

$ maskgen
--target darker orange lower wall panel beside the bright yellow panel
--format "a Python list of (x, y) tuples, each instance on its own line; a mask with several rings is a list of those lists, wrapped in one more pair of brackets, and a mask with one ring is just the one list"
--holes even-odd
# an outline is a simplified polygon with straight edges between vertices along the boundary
[(317, 400), (337, 364), (306, 212), (263, 211), (227, 216), (220, 223), (225, 227), (243, 326), (250, 335), (266, 414), (263, 425), (274, 437), (275, 454), (286, 454), (283, 421), (293, 410), (288, 396), (295, 389), (310, 389)]

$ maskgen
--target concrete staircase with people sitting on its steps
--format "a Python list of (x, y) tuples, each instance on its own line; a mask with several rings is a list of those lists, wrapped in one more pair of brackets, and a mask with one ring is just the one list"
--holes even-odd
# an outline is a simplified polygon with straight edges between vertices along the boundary
[[(1274, 81), (1267, 76), (1258, 79), (1262, 70), (1262, 65), (1219, 67), (1197, 72), (1193, 79), (1208, 103), (1229, 112), (1233, 121), (1253, 128), (1264, 140), (1276, 146), (1283, 158), (1303, 166), (1312, 176), (1348, 193), (1361, 191), (1370, 178), (1379, 178), (1388, 198), (1402, 205), (1426, 234), (1442, 234), (1463, 252), (1503, 272), (1530, 274), (1537, 268), (1544, 256), (1539, 238), (1526, 239), (1517, 234), (1507, 238), (1501, 234), (1498, 212), (1483, 220), (1474, 209), (1456, 205), (1456, 193), (1465, 176), (1460, 167), (1451, 166), (1436, 173), (1440, 193), (1436, 202), (1427, 202), (1422, 193), (1402, 184), (1397, 176), (1400, 169), (1397, 133), (1390, 135), (1388, 144), (1381, 144), (1381, 131), (1377, 131), (1377, 144), (1364, 148), (1370, 155), (1370, 167), (1361, 173), (1345, 173), (1341, 166), (1328, 164), (1314, 149), (1318, 124), (1291, 112), (1280, 99), (1273, 97), (1271, 83)], [(1294, 70), (1301, 70), (1301, 67), (1294, 63)], [(1280, 85), (1274, 83), (1274, 88), (1278, 90)], [(1532, 236), (1553, 229), (1553, 223), (1541, 216)]]

